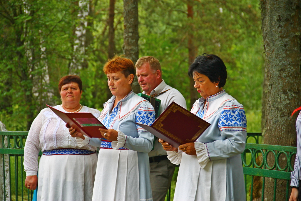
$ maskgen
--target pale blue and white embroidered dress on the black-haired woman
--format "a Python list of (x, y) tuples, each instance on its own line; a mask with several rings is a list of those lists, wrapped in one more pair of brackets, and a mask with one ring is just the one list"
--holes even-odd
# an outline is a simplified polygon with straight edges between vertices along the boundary
[(240, 153), (245, 149), (244, 107), (225, 90), (198, 99), (191, 112), (211, 125), (194, 143), (197, 155), (167, 152), (180, 164), (174, 201), (246, 200)]

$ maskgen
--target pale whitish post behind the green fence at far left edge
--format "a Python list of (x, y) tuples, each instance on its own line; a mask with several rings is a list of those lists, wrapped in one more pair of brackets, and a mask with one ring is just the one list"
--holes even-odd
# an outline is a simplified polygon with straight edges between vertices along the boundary
[[(0, 121), (0, 131), (7, 131), (5, 125)], [(5, 139), (5, 144), (8, 144)], [(0, 148), (2, 147), (2, 136), (0, 136)], [(3, 167), (4, 164), (4, 167)], [(5, 176), (5, 180), (4, 180)], [(0, 200), (10, 200), (10, 184), (9, 184), (9, 160), (8, 154), (0, 154)], [(5, 184), (5, 189), (4, 189)], [(5, 194), (4, 194), (5, 192)]]

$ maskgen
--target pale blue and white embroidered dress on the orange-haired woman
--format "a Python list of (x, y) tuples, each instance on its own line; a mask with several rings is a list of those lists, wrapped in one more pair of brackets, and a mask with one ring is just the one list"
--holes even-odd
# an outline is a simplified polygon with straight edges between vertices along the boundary
[[(98, 156), (92, 200), (139, 200), (140, 197), (140, 200), (151, 201), (147, 153), (153, 147), (154, 136), (135, 123), (151, 125), (155, 120), (154, 108), (133, 92), (113, 108), (115, 98), (113, 96), (104, 103), (99, 120), (108, 129), (118, 131), (117, 142), (107, 141), (104, 138), (89, 139), (89, 145), (102, 148)], [(112, 148), (115, 150), (107, 150)], [(138, 172), (135, 171), (136, 168)], [(111, 171), (113, 169), (114, 171)], [(138, 182), (135, 180), (137, 174)], [(104, 177), (109, 177), (110, 182), (108, 183)], [(107, 190), (112, 188), (115, 192)], [(138, 196), (138, 199), (131, 197), (131, 193), (128, 192), (131, 188), (135, 188), (132, 189), (132, 194)], [(137, 190), (138, 192), (135, 192)]]

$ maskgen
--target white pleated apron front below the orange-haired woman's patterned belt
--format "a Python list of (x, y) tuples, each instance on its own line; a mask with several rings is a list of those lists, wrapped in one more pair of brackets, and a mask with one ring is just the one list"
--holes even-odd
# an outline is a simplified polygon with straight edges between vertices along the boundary
[(100, 149), (92, 200), (136, 201), (139, 199), (137, 152)]

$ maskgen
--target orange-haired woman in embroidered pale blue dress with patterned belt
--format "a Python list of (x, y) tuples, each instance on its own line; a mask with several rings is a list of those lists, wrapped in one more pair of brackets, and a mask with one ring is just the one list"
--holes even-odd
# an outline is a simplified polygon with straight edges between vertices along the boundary
[(135, 123), (151, 125), (155, 120), (151, 104), (132, 91), (134, 64), (113, 57), (104, 65), (112, 93), (99, 120), (102, 138), (89, 138), (70, 128), (79, 146), (100, 147), (92, 200), (153, 200), (147, 153), (154, 136)]

